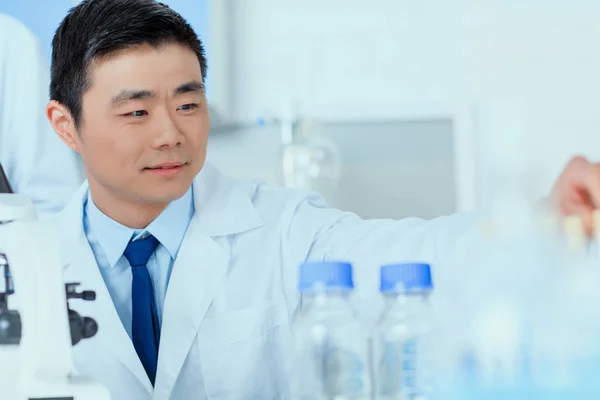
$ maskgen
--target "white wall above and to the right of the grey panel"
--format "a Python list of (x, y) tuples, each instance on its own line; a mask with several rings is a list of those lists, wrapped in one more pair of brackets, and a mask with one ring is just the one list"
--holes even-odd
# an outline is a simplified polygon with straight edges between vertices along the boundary
[[(459, 116), (460, 209), (499, 196), (494, 160), (503, 174), (528, 171), (521, 186), (532, 199), (549, 191), (574, 153), (600, 160), (597, 1), (231, 5), (237, 120), (279, 115), (290, 99), (325, 119)], [(435, 195), (448, 193), (432, 185)]]

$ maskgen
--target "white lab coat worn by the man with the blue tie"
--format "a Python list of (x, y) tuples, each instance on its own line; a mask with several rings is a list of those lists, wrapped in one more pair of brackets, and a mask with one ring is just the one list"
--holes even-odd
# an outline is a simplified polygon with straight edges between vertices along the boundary
[(302, 261), (354, 262), (360, 303), (374, 304), (380, 263), (428, 260), (434, 277), (447, 280), (438, 264), (468, 243), (476, 221), (365, 221), (324, 208), (316, 195), (233, 180), (206, 165), (193, 184), (196, 214), (166, 295), (153, 391), (86, 240), (86, 190), (84, 184), (58, 217), (66, 280), (97, 293), (95, 302), (71, 304), (99, 324), (74, 357), (78, 372), (106, 385), (116, 400), (285, 399)]

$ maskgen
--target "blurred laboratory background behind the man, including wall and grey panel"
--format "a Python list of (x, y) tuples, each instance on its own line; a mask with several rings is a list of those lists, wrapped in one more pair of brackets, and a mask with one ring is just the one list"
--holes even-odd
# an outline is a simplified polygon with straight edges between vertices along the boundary
[[(74, 3), (0, 12), (49, 57)], [(489, 207), (506, 185), (540, 198), (570, 156), (600, 155), (595, 2), (166, 3), (206, 44), (209, 161), (235, 177), (363, 217), (433, 218)]]

